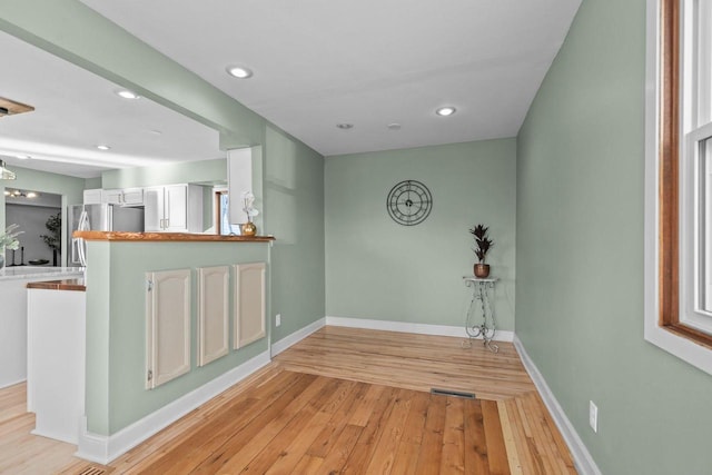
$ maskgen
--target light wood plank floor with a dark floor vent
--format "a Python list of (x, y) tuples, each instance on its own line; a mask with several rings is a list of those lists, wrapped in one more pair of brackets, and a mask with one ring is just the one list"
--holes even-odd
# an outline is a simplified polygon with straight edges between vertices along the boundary
[(514, 347), (461, 342), (325, 327), (108, 467), (27, 435), (23, 393), (3, 389), (0, 473), (575, 473)]

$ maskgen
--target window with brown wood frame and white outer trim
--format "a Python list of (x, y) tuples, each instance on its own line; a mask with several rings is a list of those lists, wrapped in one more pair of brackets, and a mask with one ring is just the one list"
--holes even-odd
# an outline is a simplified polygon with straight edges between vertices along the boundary
[(712, 374), (712, 2), (647, 6), (645, 338)]

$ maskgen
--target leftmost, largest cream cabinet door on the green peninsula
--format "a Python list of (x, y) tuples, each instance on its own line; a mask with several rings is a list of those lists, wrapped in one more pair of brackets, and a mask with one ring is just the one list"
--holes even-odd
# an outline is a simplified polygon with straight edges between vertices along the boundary
[(190, 370), (190, 269), (147, 273), (146, 388)]

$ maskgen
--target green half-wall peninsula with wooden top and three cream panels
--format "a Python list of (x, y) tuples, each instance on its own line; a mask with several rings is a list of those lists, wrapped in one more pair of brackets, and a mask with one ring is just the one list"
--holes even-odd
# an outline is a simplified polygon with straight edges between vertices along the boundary
[(87, 244), (79, 456), (106, 463), (269, 362), (274, 237), (73, 237)]

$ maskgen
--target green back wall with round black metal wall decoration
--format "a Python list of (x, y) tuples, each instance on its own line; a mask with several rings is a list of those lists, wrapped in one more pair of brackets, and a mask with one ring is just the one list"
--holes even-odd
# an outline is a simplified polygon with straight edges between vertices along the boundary
[[(461, 326), (472, 291), (462, 277), (476, 257), (468, 229), (490, 226), (487, 258), (498, 277), (495, 311), (514, 330), (514, 139), (328, 157), (326, 314)], [(417, 226), (390, 219), (399, 181), (425, 184), (433, 210)]]

